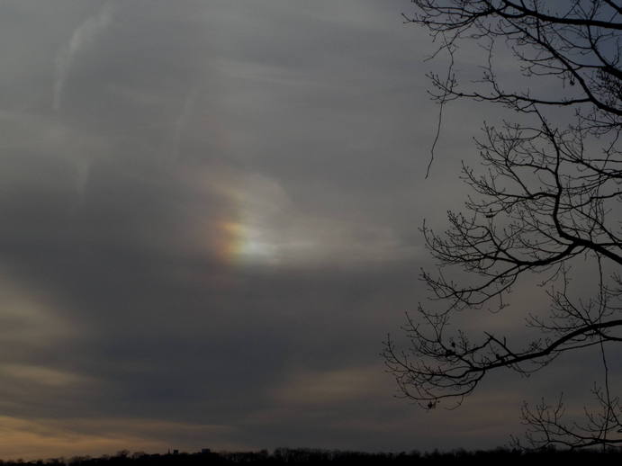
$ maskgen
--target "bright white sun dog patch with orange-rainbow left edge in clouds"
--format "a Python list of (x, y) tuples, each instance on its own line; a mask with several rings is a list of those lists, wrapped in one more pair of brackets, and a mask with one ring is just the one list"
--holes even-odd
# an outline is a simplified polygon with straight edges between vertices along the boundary
[(228, 264), (306, 266), (404, 259), (415, 248), (386, 225), (312, 215), (264, 175), (246, 175), (215, 189), (230, 200), (231, 219), (217, 225), (216, 247)]

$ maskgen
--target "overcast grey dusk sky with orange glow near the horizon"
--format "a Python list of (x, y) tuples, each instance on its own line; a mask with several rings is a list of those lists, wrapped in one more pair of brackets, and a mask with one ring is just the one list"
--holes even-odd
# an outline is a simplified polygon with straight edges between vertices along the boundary
[(447, 107), (426, 179), (443, 63), (409, 9), (0, 2), (0, 458), (491, 448), (572, 380), (562, 359), (454, 411), (394, 397), (419, 228), (464, 202), (487, 114)]

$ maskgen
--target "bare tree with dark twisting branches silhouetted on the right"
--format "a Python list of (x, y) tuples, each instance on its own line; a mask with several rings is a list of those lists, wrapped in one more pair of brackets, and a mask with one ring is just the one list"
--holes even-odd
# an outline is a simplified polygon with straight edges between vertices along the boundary
[[(442, 234), (422, 231), (438, 271), (423, 271), (437, 309), (419, 304), (404, 326), (409, 344), (391, 337), (383, 356), (401, 395), (423, 408), (455, 407), (489, 372), (538, 371), (560, 354), (599, 350), (603, 384), (584, 425), (563, 419), (561, 399), (522, 410), (531, 446), (571, 448), (622, 444), (622, 407), (610, 393), (606, 349), (622, 342), (622, 68), (619, 0), (412, 0), (406, 22), (423, 26), (446, 52), (446, 76), (430, 74), (431, 93), (452, 100), (499, 103), (520, 122), (484, 125), (476, 140), (482, 174), (463, 166), (473, 189), (465, 212), (449, 212)], [(485, 52), (481, 79), (464, 86), (454, 72), (458, 44)], [(520, 66), (521, 82), (506, 88), (495, 69), (502, 48)], [(516, 83), (516, 80), (513, 81)], [(537, 90), (542, 89), (543, 94)], [(563, 110), (570, 112), (563, 112)], [(526, 122), (530, 121), (530, 122)], [(554, 121), (557, 121), (555, 124)], [(439, 118), (439, 130), (441, 121)], [(438, 136), (438, 135), (437, 135)], [(436, 144), (436, 142), (435, 142)], [(573, 265), (593, 264), (594, 292), (571, 291)], [(468, 282), (455, 280), (455, 270)], [(452, 319), (469, 309), (499, 312), (512, 288), (530, 274), (550, 299), (548, 314), (523, 309), (536, 332), (517, 346), (482, 330), (467, 335)], [(461, 275), (464, 276), (464, 275)], [(518, 303), (519, 304), (519, 303)], [(516, 303), (514, 303), (516, 307)]]

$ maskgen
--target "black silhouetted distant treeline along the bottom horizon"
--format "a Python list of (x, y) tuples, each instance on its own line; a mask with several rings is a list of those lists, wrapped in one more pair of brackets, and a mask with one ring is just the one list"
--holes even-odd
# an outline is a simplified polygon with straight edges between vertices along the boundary
[(327, 451), (309, 448), (277, 448), (273, 453), (267, 450), (259, 452), (219, 452), (203, 450), (201, 453), (130, 453), (122, 451), (114, 455), (100, 457), (76, 456), (73, 458), (55, 458), (24, 462), (23, 460), (0, 461), (2, 466), (26, 464), (37, 466), (194, 466), (194, 465), (238, 465), (257, 464), (266, 466), (280, 466), (293, 464), (339, 464), (356, 466), (392, 465), (419, 465), (419, 464), (527, 464), (527, 462), (570, 462), (580, 461), (583, 464), (622, 464), (622, 451), (610, 450), (554, 450), (548, 449), (538, 452), (524, 452), (518, 450), (497, 449), (489, 451), (432, 452), (432, 453), (361, 453), (344, 451)]

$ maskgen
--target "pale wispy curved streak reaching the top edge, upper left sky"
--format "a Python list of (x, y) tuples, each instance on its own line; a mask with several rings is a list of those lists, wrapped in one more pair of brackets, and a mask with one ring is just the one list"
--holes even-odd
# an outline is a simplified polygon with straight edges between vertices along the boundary
[(52, 107), (55, 111), (60, 109), (65, 83), (71, 69), (71, 65), (77, 54), (85, 49), (97, 35), (104, 31), (113, 20), (113, 6), (110, 2), (105, 3), (97, 13), (86, 18), (77, 26), (68, 44), (61, 49), (54, 60), (54, 88)]

